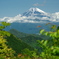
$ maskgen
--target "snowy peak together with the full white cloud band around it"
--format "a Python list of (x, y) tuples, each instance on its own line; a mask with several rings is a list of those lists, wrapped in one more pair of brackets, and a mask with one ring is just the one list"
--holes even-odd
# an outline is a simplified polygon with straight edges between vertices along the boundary
[(13, 22), (21, 22), (21, 23), (59, 22), (59, 12), (49, 14), (39, 8), (30, 8), (28, 11), (24, 12), (22, 15), (19, 14), (15, 17), (0, 18), (0, 21), (6, 21), (10, 23), (13, 23)]

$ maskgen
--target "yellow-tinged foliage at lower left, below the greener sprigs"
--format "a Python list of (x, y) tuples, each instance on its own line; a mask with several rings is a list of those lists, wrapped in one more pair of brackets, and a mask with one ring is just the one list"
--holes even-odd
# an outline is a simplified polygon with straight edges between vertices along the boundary
[(14, 50), (12, 50), (12, 48), (9, 48), (6, 43), (7, 43), (7, 39), (4, 39), (4, 35), (0, 35), (0, 58), (1, 59), (5, 59), (7, 57), (8, 58), (14, 57), (14, 53), (15, 53)]

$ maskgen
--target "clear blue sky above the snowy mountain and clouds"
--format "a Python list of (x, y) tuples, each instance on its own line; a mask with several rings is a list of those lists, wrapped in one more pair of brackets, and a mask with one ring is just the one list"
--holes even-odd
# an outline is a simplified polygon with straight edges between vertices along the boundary
[(59, 12), (59, 0), (0, 0), (0, 18), (14, 17), (31, 7), (48, 13)]

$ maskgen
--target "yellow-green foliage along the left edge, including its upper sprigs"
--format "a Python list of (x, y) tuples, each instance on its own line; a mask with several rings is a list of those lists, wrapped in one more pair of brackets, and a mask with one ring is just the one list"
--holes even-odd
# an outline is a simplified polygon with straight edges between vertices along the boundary
[(1, 22), (0, 26), (0, 59), (11, 58), (14, 56), (12, 48), (7, 46), (7, 39), (5, 37), (10, 36), (10, 33), (3, 31), (3, 29), (9, 26), (9, 23)]

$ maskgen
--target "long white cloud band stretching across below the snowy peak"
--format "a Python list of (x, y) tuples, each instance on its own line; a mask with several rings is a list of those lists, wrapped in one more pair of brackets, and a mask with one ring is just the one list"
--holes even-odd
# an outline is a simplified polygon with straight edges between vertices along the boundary
[[(38, 20), (36, 20), (38, 19)], [(38, 23), (38, 22), (46, 22), (47, 20), (49, 21), (53, 21), (53, 22), (59, 22), (59, 20), (56, 20), (56, 19), (59, 19), (59, 13), (54, 13), (54, 14), (51, 14), (50, 15), (50, 18), (49, 17), (37, 17), (37, 16), (29, 16), (29, 17), (26, 17), (26, 16), (21, 16), (20, 14), (15, 16), (15, 17), (4, 17), (4, 18), (0, 18), (0, 21), (6, 21), (6, 22), (10, 22), (10, 23), (13, 23), (13, 22), (29, 22), (29, 23)]]

